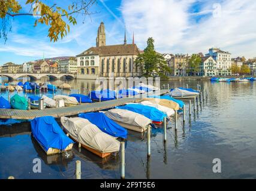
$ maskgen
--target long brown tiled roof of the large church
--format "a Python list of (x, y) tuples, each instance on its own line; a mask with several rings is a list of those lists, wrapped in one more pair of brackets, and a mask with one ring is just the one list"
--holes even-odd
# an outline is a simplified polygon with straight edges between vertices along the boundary
[(140, 51), (136, 44), (121, 44), (121, 45), (107, 45), (101, 47), (91, 47), (83, 53), (77, 55), (88, 56), (88, 55), (99, 55), (99, 56), (127, 56), (127, 55), (138, 55)]

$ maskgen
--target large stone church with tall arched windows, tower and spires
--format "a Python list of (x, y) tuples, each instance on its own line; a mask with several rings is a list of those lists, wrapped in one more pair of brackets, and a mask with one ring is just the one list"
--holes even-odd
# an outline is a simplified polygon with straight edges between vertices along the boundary
[(96, 47), (91, 47), (77, 55), (77, 78), (96, 79), (98, 77), (135, 77), (140, 76), (140, 67), (135, 59), (140, 51), (134, 41), (127, 44), (106, 45), (104, 23), (98, 28)]

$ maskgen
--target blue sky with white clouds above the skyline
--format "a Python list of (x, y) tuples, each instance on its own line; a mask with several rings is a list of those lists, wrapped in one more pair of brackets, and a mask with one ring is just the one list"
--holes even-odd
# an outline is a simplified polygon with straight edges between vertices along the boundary
[[(20, 0), (22, 13), (30, 7)], [(68, 0), (46, 0), (67, 7)], [(77, 24), (58, 42), (50, 42), (48, 26), (35, 17), (11, 19), (7, 42), (0, 39), (0, 65), (12, 61), (22, 64), (44, 57), (76, 56), (95, 47), (101, 21), (106, 27), (106, 44), (127, 41), (143, 50), (147, 38), (155, 39), (159, 53), (206, 54), (209, 48), (229, 51), (232, 57), (256, 57), (255, 0), (98, 0), (90, 16), (77, 16)], [(0, 21), (1, 22), (1, 21)]]

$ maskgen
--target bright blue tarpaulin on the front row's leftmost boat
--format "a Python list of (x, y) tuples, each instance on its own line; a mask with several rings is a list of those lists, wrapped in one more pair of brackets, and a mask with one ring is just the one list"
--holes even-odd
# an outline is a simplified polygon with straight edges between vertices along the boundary
[(57, 124), (52, 116), (43, 116), (31, 121), (31, 131), (44, 150), (50, 147), (64, 150), (70, 143), (74, 143)]

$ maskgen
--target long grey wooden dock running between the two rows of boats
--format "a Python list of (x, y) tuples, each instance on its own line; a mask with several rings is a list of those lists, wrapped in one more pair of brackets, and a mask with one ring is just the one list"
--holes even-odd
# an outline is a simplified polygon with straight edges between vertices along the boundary
[[(169, 90), (160, 90), (158, 95), (168, 93)], [(61, 116), (72, 116), (79, 113), (95, 112), (98, 110), (109, 109), (116, 106), (121, 106), (129, 102), (135, 102), (149, 94), (137, 95), (134, 97), (119, 98), (110, 101), (101, 101), (90, 104), (81, 104), (70, 107), (58, 107), (58, 108), (46, 108), (44, 110), (19, 110), (19, 109), (0, 109), (0, 118), (2, 119), (34, 119), (40, 116), (53, 116), (54, 118), (60, 118)]]

